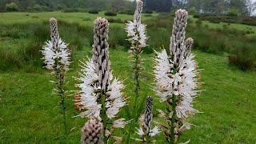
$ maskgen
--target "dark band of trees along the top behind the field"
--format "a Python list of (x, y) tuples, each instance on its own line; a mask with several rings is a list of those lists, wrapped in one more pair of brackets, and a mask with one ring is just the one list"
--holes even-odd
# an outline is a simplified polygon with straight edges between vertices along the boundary
[[(198, 13), (251, 15), (256, 10), (253, 0), (143, 0), (146, 10), (170, 12), (178, 8)], [(134, 10), (128, 0), (0, 0), (0, 11), (50, 11), (66, 8), (86, 10)]]

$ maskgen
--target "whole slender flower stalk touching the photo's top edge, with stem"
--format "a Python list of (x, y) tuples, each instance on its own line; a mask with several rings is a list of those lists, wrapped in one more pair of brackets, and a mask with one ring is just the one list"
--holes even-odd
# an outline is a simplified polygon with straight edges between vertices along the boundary
[[(136, 121), (139, 117), (138, 110), (137, 110), (137, 103), (139, 97), (139, 90), (140, 90), (140, 77), (142, 71), (145, 70), (143, 66), (143, 59), (141, 58), (143, 48), (146, 47), (146, 25), (142, 24), (141, 17), (142, 17), (142, 7), (143, 2), (141, 0), (137, 1), (136, 10), (134, 12), (134, 22), (128, 22), (126, 25), (126, 32), (128, 36), (128, 41), (131, 43), (130, 46), (130, 62), (132, 63), (132, 68), (134, 69), (134, 94), (135, 94), (135, 101), (133, 106), (133, 112), (131, 114), (132, 118), (135, 118)], [(130, 142), (130, 134), (134, 128), (134, 122), (131, 123), (129, 134), (128, 134), (128, 143)]]

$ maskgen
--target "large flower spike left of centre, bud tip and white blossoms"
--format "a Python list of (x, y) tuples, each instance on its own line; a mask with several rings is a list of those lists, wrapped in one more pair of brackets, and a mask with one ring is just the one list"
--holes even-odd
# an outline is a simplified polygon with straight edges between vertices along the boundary
[(82, 83), (76, 85), (81, 89), (76, 104), (80, 110), (84, 110), (80, 114), (82, 118), (98, 118), (103, 123), (105, 137), (119, 141), (120, 138), (112, 135), (113, 130), (124, 128), (130, 121), (117, 115), (126, 106), (127, 99), (122, 92), (125, 87), (123, 82), (113, 78), (110, 71), (108, 28), (109, 23), (105, 18), (94, 21), (93, 57), (81, 62), (80, 78), (76, 79)]

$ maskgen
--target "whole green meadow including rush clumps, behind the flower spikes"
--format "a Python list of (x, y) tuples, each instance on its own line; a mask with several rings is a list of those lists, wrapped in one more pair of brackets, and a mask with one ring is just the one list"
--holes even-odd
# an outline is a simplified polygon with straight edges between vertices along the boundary
[[(114, 75), (126, 79), (126, 92), (133, 102), (134, 85), (130, 68), (130, 47), (124, 30), (133, 15), (117, 17), (87, 13), (2, 13), (0, 14), (0, 143), (79, 143), (80, 129), (86, 119), (71, 118), (78, 115), (74, 109), (74, 96), (67, 98), (67, 122), (69, 137), (62, 138), (62, 115), (59, 98), (51, 95), (52, 76), (42, 68), (43, 42), (50, 39), (49, 18), (59, 21), (61, 37), (70, 43), (72, 65), (67, 75), (68, 90), (75, 90), (73, 76), (78, 76), (78, 60), (91, 56), (94, 18), (102, 16), (110, 20), (110, 61)], [(142, 57), (146, 71), (142, 74), (141, 95), (138, 107), (143, 109), (147, 95), (154, 96), (148, 84), (153, 82), (153, 49), (169, 47), (173, 16), (170, 14), (143, 14), (147, 24), (149, 46)], [(225, 25), (225, 26), (224, 26)], [(250, 32), (247, 32), (250, 30)], [(254, 143), (256, 125), (256, 50), (255, 26), (242, 24), (198, 22), (190, 17), (187, 37), (194, 38), (193, 53), (202, 71), (202, 89), (194, 107), (202, 111), (189, 122), (194, 125), (186, 131), (182, 142), (190, 143)], [(154, 110), (162, 103), (154, 98)], [(127, 108), (126, 108), (127, 109)], [(121, 116), (129, 118), (129, 111)], [(154, 111), (154, 118), (157, 116)], [(158, 120), (157, 118), (155, 120)], [(127, 126), (128, 127), (128, 126)], [(116, 131), (126, 138), (126, 131)], [(136, 138), (137, 135), (132, 135)], [(157, 143), (164, 143), (162, 134)], [(124, 141), (125, 143), (125, 141)], [(133, 142), (136, 143), (136, 142)]]

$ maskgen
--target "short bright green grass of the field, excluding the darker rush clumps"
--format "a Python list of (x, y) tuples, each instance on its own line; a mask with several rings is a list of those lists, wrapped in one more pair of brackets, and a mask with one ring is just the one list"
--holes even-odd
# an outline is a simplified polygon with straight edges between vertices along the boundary
[[(29, 14), (29, 16), (26, 16), (26, 14)], [(99, 15), (103, 16), (103, 13)], [(93, 20), (97, 16), (97, 14), (60, 12), (46, 14), (7, 13), (0, 14), (0, 23), (6, 22), (6, 25), (12, 25), (17, 22), (30, 22), (31, 19), (40, 22), (50, 17), (56, 17), (68, 22), (78, 22), (82, 25), (93, 26)], [(83, 18), (87, 18), (87, 21), (83, 21)], [(132, 16), (118, 14), (118, 18), (126, 20), (132, 19)], [(152, 17), (143, 17), (142, 19), (145, 20), (146, 18)], [(45, 25), (46, 27), (48, 26), (47, 23)], [(112, 26), (110, 25), (110, 31), (115, 26), (124, 26), (124, 24), (114, 23)], [(63, 35), (64, 38), (69, 38), (66, 34), (69, 33), (61, 30), (60, 35)], [(93, 35), (89, 34), (88, 37), (93, 37)], [(69, 39), (65, 40), (69, 42)], [(166, 39), (166, 41), (169, 41), (169, 39)], [(29, 45), (28, 42), (30, 40), (26, 39), (26, 37), (1, 38), (0, 50), (7, 49), (12, 51), (15, 59), (19, 54), (19, 51), (15, 52), (15, 49), (18, 46), (22, 49), (22, 46)], [(72, 54), (73, 63), (71, 67), (73, 70), (70, 70), (67, 76), (67, 80), (70, 82), (68, 90), (75, 90), (75, 81), (72, 76), (78, 76), (76, 72), (79, 70), (78, 60), (91, 54), (90, 42), (83, 44), (84, 46), (79, 50), (74, 49)], [(153, 47), (150, 48), (152, 49)], [(41, 47), (38, 49), (40, 50)], [(158, 50), (158, 47), (155, 49)], [(256, 142), (256, 125), (254, 124), (256, 119), (256, 97), (254, 95), (256, 93), (256, 72), (253, 70), (242, 71), (235, 66), (230, 66), (225, 54), (207, 54), (199, 50), (194, 50), (193, 52), (197, 54), (198, 66), (204, 69), (202, 71), (202, 82), (205, 82), (205, 84), (202, 89), (206, 91), (202, 92), (197, 98), (198, 102), (194, 103), (194, 107), (203, 113), (196, 114), (189, 119), (191, 123), (197, 126), (193, 126), (191, 130), (187, 130), (182, 135), (182, 142), (190, 139), (192, 144), (254, 144)], [(36, 53), (40, 55), (39, 51)], [(125, 47), (110, 47), (111, 68), (114, 70), (114, 76), (120, 79), (127, 78), (125, 81), (127, 85), (126, 92), (127, 96), (131, 97), (130, 102), (133, 102), (134, 86), (131, 83), (133, 78), (128, 56), (129, 54)], [(152, 71), (150, 65), (152, 64), (153, 56), (154, 54), (142, 54), (142, 57), (146, 59), (146, 71), (142, 74), (142, 98), (139, 98), (138, 102), (141, 106), (144, 103), (143, 99), (147, 95), (154, 96), (154, 92), (148, 86), (149, 83), (153, 82), (153, 76), (149, 74)], [(0, 63), (0, 65), (5, 65), (5, 63)], [(21, 63), (21, 65), (26, 65), (26, 63)], [(66, 103), (70, 134), (66, 141), (62, 138), (62, 115), (58, 108), (59, 98), (51, 95), (53, 86), (49, 81), (53, 77), (48, 73), (49, 71), (40, 67), (33, 70), (24, 67), (1, 70), (0, 143), (79, 143), (80, 129), (86, 119), (71, 118), (79, 113), (74, 110), (74, 97), (71, 95)], [(158, 113), (155, 109), (161, 107), (162, 103), (159, 103), (158, 99), (155, 98), (155, 120), (158, 120), (156, 118)], [(127, 118), (127, 111), (122, 110), (120, 116)], [(118, 130), (116, 134), (124, 135), (123, 137), (126, 138), (125, 130)], [(134, 134), (133, 138), (136, 138), (136, 136)], [(157, 137), (157, 143), (164, 142), (165, 139), (160, 134)]]

